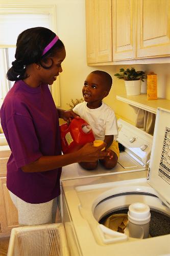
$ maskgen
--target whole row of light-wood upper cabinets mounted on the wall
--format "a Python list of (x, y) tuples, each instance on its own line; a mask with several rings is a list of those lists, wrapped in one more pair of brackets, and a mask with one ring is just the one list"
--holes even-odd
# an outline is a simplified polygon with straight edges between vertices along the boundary
[(87, 63), (169, 57), (169, 24), (169, 0), (86, 0)]

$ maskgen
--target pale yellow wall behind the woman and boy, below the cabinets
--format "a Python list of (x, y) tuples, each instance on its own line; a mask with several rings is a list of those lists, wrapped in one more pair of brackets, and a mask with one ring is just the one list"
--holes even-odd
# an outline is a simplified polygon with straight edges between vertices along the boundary
[[(1, 0), (1, 4), (14, 4), (13, 0)], [(35, 0), (15, 0), (15, 4), (35, 4)], [(60, 99), (61, 108), (69, 109), (67, 103), (71, 98), (82, 97), (84, 79), (92, 70), (104, 70), (113, 78), (113, 87), (105, 99), (116, 114), (129, 122), (135, 122), (135, 113), (131, 106), (117, 101), (117, 93), (125, 93), (124, 81), (118, 80), (114, 74), (120, 68), (134, 67), (136, 70), (153, 70), (158, 74), (158, 96), (170, 99), (170, 64), (154, 65), (121, 65), (88, 67), (86, 64), (86, 30), (85, 30), (85, 0), (39, 0), (36, 4), (55, 4), (57, 11), (57, 34), (64, 42), (66, 59), (63, 62), (63, 72), (60, 74)], [(146, 92), (146, 84), (142, 83), (142, 92)], [(55, 96), (54, 96), (55, 99)]]

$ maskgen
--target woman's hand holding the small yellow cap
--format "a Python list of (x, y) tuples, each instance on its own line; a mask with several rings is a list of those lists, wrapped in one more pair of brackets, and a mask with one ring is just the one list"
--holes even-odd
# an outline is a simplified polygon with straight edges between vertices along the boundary
[(79, 162), (95, 162), (98, 159), (104, 159), (105, 156), (109, 156), (107, 151), (102, 151), (102, 148), (106, 147), (106, 143), (95, 147), (93, 143), (86, 143), (79, 151), (77, 151)]

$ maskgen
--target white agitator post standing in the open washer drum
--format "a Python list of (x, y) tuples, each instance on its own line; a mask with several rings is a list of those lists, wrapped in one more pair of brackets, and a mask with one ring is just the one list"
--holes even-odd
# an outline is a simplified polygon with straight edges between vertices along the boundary
[(133, 203), (129, 206), (129, 237), (149, 238), (151, 213), (150, 207), (144, 203)]

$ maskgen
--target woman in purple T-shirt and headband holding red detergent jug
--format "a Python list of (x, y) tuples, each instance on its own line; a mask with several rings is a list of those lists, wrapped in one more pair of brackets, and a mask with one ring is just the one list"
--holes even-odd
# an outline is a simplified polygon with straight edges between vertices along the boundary
[(65, 59), (62, 41), (50, 29), (36, 27), (19, 34), (15, 61), (7, 78), (15, 81), (4, 99), (1, 124), (11, 149), (7, 187), (18, 209), (20, 225), (55, 222), (60, 195), (61, 167), (103, 159), (108, 153), (87, 143), (79, 151), (62, 155), (59, 118), (79, 118), (56, 109), (48, 89)]

